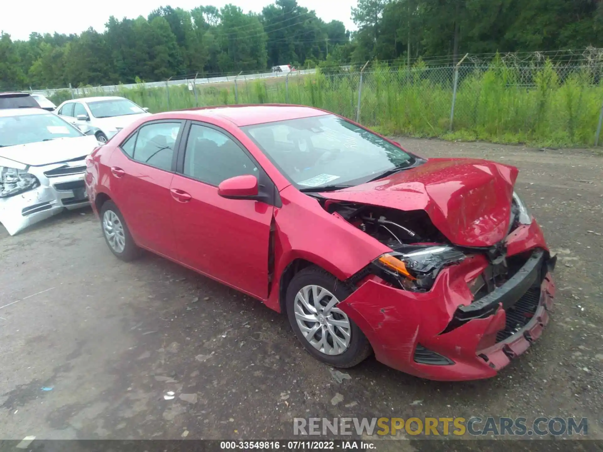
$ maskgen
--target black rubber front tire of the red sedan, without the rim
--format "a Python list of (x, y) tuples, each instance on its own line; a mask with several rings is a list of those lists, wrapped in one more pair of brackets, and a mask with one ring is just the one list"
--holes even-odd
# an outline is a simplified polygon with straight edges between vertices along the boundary
[[(367, 337), (362, 333), (358, 325), (356, 325), (352, 319), (348, 319), (350, 322), (350, 342), (346, 349), (338, 355), (328, 355), (321, 352), (317, 348), (313, 347), (308, 339), (303, 335), (297, 324), (295, 318), (295, 297), (297, 293), (305, 286), (320, 286), (324, 289), (329, 290), (330, 293), (335, 295), (337, 300), (345, 300), (353, 290), (350, 287), (346, 287), (345, 284), (341, 283), (332, 274), (324, 271), (320, 267), (311, 266), (307, 267), (292, 278), (289, 286), (287, 287), (285, 306), (287, 310), (287, 316), (289, 323), (295, 331), (295, 336), (301, 342), (303, 347), (314, 356), (316, 359), (327, 363), (334, 367), (349, 368), (357, 365), (364, 361), (372, 353), (371, 345), (368, 342)], [(317, 333), (318, 334), (318, 333)]]

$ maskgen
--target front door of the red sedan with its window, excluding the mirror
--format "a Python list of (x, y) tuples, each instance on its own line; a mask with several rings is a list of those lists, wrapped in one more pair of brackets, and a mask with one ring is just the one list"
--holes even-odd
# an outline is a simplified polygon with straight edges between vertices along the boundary
[(274, 207), (226, 199), (218, 184), (251, 174), (270, 185), (247, 149), (226, 131), (193, 122), (171, 184), (178, 256), (186, 265), (258, 298), (268, 296), (268, 242)]

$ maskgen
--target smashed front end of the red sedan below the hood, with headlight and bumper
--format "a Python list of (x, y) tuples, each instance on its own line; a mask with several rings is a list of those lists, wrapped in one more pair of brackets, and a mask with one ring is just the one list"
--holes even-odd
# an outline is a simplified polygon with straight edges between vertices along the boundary
[(548, 323), (555, 257), (519, 196), (507, 237), (482, 247), (450, 243), (425, 212), (323, 207), (391, 249), (346, 281), (357, 289), (339, 304), (381, 362), (432, 380), (493, 377)]

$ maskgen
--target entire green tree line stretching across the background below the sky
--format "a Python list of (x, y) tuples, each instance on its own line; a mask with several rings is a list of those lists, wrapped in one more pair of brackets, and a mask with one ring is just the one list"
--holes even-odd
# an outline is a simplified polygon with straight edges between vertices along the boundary
[[(158, 81), (170, 77), (313, 67), (465, 52), (603, 47), (598, 0), (358, 0), (358, 30), (324, 22), (296, 0), (261, 13), (234, 5), (160, 7), (148, 17), (109, 17), (103, 33), (0, 34), (0, 88)], [(347, 11), (346, 11), (347, 14)]]

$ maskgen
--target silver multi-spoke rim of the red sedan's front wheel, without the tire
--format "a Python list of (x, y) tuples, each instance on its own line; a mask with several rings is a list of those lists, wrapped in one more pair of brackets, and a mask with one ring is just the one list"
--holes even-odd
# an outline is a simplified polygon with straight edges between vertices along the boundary
[(294, 301), (295, 321), (301, 334), (316, 350), (330, 356), (344, 353), (350, 346), (352, 328), (339, 300), (321, 286), (305, 286)]

